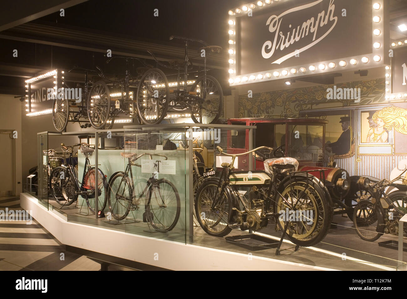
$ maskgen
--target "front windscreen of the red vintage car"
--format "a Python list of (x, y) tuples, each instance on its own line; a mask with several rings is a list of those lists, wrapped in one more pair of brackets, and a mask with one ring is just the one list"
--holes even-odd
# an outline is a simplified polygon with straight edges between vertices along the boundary
[(290, 125), (289, 132), (289, 157), (303, 161), (322, 161), (323, 126)]

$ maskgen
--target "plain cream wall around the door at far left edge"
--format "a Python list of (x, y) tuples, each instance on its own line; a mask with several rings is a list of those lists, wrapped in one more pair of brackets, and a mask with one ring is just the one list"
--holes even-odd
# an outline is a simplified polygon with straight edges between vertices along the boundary
[[(15, 191), (16, 195), (19, 195), (22, 191), (22, 183), (25, 180), (22, 178), (22, 127), (21, 127), (21, 114), (18, 113), (24, 106), (18, 98), (14, 98), (13, 95), (0, 94), (0, 129), (1, 130), (16, 130), (17, 139), (15, 140)], [(25, 108), (25, 107), (24, 107)], [(9, 159), (10, 157), (1, 157), (2, 159)], [(1, 177), (9, 176), (10, 174), (2, 170), (0, 172)]]

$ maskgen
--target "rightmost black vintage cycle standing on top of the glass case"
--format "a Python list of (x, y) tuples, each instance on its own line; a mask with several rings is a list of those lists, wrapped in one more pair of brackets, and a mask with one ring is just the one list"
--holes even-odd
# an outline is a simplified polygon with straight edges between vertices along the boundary
[[(158, 61), (153, 53), (148, 51), (156, 63), (164, 68), (177, 70), (175, 86), (168, 87), (166, 75), (158, 68), (151, 68), (145, 72), (138, 85), (136, 104), (140, 120), (144, 124), (158, 124), (167, 113), (177, 114), (180, 111), (190, 113), (196, 123), (209, 124), (216, 122), (223, 113), (223, 92), (220, 83), (213, 76), (207, 75), (206, 57), (221, 51), (219, 46), (209, 46), (200, 39), (172, 35), (170, 40), (180, 39), (185, 43), (184, 60), (174, 59), (165, 65)], [(197, 79), (188, 81), (188, 72), (192, 70), (188, 49), (192, 42), (202, 44), (200, 53), (204, 55), (203, 74)], [(199, 56), (201, 57), (201, 56)], [(181, 70), (183, 78), (181, 79)], [(188, 82), (193, 83), (188, 90)], [(170, 95), (171, 93), (171, 95)]]

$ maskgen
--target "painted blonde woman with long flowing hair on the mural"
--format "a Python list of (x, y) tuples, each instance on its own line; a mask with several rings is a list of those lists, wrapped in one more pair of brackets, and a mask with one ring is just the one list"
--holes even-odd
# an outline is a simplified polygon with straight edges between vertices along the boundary
[(396, 106), (385, 107), (376, 111), (372, 120), (376, 127), (370, 128), (366, 142), (382, 143), (388, 142), (389, 131), (393, 128), (400, 133), (407, 135), (407, 110)]

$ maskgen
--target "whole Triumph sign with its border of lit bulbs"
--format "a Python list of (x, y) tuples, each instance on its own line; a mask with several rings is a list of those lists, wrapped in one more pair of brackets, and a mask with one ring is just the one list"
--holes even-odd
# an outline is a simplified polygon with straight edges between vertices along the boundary
[(383, 0), (257, 1), (229, 11), (230, 85), (388, 61)]

